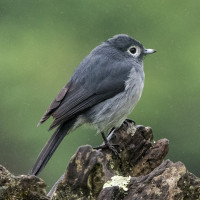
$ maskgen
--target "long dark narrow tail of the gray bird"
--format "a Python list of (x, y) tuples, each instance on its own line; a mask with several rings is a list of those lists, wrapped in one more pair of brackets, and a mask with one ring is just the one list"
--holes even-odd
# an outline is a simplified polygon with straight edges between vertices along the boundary
[(69, 120), (67, 123), (62, 124), (57, 128), (55, 133), (51, 136), (47, 144), (40, 152), (33, 168), (29, 171), (30, 175), (38, 175), (42, 171), (42, 169), (46, 166), (47, 162), (57, 149), (58, 145), (74, 125), (75, 121), (76, 119)]

